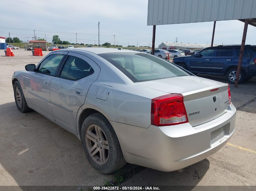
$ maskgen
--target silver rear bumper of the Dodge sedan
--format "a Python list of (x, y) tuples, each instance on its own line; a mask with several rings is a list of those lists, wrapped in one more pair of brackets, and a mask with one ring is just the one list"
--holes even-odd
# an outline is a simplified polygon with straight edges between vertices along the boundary
[(174, 171), (207, 158), (221, 149), (235, 130), (234, 105), (222, 116), (192, 127), (149, 126), (147, 129), (112, 122), (125, 160), (161, 171)]

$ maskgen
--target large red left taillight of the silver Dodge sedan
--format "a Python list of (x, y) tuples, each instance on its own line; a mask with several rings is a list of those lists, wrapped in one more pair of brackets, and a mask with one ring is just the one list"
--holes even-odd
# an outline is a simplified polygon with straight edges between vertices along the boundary
[(169, 126), (188, 123), (183, 95), (168, 94), (151, 101), (151, 125)]

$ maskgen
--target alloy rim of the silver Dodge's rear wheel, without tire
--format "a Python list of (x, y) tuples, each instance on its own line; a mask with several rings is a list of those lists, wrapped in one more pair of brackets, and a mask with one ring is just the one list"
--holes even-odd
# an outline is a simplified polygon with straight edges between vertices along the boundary
[(86, 148), (89, 155), (95, 161), (95, 163), (103, 165), (108, 161), (109, 146), (103, 130), (92, 124), (86, 130)]

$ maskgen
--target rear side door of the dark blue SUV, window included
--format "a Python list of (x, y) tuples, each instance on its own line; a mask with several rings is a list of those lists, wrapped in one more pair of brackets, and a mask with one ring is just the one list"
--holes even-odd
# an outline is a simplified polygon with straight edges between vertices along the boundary
[(232, 47), (218, 48), (212, 60), (211, 72), (224, 74), (228, 66), (234, 65), (234, 53)]

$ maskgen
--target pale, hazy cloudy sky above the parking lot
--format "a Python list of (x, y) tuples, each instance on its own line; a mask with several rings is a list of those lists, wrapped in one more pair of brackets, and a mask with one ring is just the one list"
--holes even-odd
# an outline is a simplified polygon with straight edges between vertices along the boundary
[[(10, 8), (9, 8), (10, 7)], [(152, 44), (153, 26), (147, 26), (148, 0), (1, 0), (0, 36), (52, 42), (58, 35), (63, 41), (98, 44), (109, 42), (123, 46)], [(241, 44), (244, 23), (217, 21), (214, 44)], [(213, 22), (157, 25), (155, 47), (162, 42), (211, 43)], [(245, 44), (256, 44), (256, 27), (248, 26)], [(114, 35), (116, 35), (114, 37)]]

